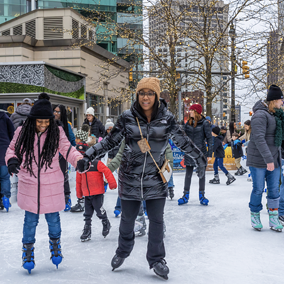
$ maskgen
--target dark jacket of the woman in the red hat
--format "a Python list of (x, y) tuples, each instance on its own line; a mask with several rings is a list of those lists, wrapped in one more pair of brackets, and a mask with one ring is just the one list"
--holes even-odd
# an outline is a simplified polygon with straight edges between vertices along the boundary
[[(205, 157), (212, 157), (212, 133), (209, 122), (204, 116), (197, 122), (197, 126), (193, 127), (188, 122), (183, 126), (183, 129), (188, 137), (195, 143), (195, 145), (200, 148)], [(205, 144), (207, 141), (208, 151)], [(189, 155), (185, 155), (185, 165), (195, 166), (195, 161), (190, 158)]]

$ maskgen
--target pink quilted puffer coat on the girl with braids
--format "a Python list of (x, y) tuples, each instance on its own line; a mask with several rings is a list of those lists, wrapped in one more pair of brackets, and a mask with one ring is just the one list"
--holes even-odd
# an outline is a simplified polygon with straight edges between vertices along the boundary
[[(58, 151), (53, 158), (51, 168), (45, 171), (45, 166), (40, 170), (38, 177), (38, 166), (35, 160), (38, 162), (38, 134), (35, 133), (34, 154), (35, 160), (33, 160), (33, 173), (35, 177), (30, 175), (26, 168), (23, 168), (25, 162), (25, 155), (23, 156), (23, 162), (21, 163), (21, 170), (18, 173), (18, 206), (28, 212), (35, 214), (45, 214), (61, 211), (65, 209), (65, 195), (64, 195), (64, 178), (62, 171), (60, 170), (58, 155), (59, 152), (66, 157), (67, 151), (70, 147), (64, 130), (61, 126), (60, 139)], [(6, 164), (11, 158), (16, 158), (15, 144), (18, 138), (18, 134), (21, 131), (21, 126), (16, 130), (13, 140), (10, 143), (9, 148), (6, 151)], [(43, 150), (43, 144), (47, 136), (47, 131), (40, 136), (40, 153)], [(74, 167), (77, 165), (77, 161), (82, 158), (82, 155), (76, 150), (75, 147), (70, 149), (68, 155), (68, 162)]]

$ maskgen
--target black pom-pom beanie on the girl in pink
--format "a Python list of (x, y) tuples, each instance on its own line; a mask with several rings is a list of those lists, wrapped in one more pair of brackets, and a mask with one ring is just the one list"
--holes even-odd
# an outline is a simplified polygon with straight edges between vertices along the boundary
[(41, 93), (38, 95), (38, 100), (33, 104), (30, 114), (28, 114), (29, 119), (54, 119), (53, 107), (49, 101), (50, 97), (46, 93)]

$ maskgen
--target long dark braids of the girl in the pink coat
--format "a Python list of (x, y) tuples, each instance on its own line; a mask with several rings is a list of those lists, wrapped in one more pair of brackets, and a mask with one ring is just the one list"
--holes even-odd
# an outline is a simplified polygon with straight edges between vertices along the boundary
[[(35, 126), (36, 119), (26, 119), (23, 127), (18, 134), (18, 139), (15, 145), (15, 154), (20, 162), (23, 161), (23, 156), (25, 155), (25, 163), (23, 167), (28, 170), (30, 175), (35, 177), (33, 173), (32, 163), (35, 160), (35, 164), (38, 168), (42, 169), (45, 166), (45, 171), (51, 168), (51, 163), (53, 163), (53, 158), (55, 153), (58, 151), (60, 130), (55, 119), (50, 119), (50, 125), (48, 126), (47, 136), (45, 138), (45, 143), (43, 144), (43, 150), (40, 153), (39, 163), (35, 159), (34, 153), (34, 143), (35, 143)], [(38, 138), (39, 139), (39, 138)], [(36, 178), (36, 177), (35, 177)]]

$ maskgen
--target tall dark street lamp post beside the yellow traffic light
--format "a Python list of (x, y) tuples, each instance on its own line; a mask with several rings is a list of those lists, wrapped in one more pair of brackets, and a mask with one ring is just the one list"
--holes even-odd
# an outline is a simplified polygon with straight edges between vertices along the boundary
[(236, 30), (234, 28), (234, 23), (230, 26), (229, 35), (231, 38), (231, 121), (236, 122), (236, 107), (235, 107), (235, 39)]

